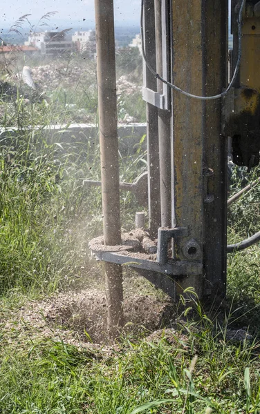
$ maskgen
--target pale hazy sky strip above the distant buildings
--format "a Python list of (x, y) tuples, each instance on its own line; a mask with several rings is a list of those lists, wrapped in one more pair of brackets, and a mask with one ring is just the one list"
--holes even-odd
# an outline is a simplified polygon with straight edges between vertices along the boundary
[[(115, 21), (126, 24), (138, 22), (140, 0), (114, 0)], [(66, 19), (94, 22), (94, 0), (3, 0), (1, 2), (0, 25), (14, 23), (24, 14), (31, 14), (35, 21), (46, 12), (57, 11), (53, 19)]]

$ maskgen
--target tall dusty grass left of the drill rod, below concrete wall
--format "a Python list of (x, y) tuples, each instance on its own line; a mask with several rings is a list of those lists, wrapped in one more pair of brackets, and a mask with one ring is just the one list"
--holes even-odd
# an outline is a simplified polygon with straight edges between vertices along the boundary
[[(58, 139), (58, 137), (57, 137)], [(50, 143), (48, 132), (30, 129), (2, 139), (0, 154), (0, 292), (35, 287), (53, 291), (74, 279), (88, 262), (89, 239), (102, 233), (98, 140)], [(120, 155), (120, 179), (133, 181), (145, 168), (144, 154)], [(134, 168), (133, 168), (134, 166)], [(124, 227), (138, 204), (122, 197)], [(140, 208), (139, 208), (140, 209)], [(82, 273), (82, 272), (81, 272)]]

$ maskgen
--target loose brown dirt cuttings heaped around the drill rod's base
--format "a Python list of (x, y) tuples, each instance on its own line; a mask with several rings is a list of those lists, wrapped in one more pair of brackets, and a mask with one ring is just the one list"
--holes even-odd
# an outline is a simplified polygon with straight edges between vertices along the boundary
[[(171, 313), (169, 300), (129, 295), (124, 299), (125, 332), (156, 331), (169, 322)], [(51, 338), (75, 346), (91, 342), (104, 346), (109, 344), (105, 293), (86, 289), (30, 301), (11, 315), (2, 331), (9, 344), (21, 342), (26, 335), (32, 342)]]

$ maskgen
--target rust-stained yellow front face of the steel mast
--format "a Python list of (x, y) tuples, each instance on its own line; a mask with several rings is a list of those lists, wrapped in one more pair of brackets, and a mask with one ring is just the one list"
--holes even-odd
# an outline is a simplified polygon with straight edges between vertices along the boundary
[[(172, 1), (173, 81), (196, 95), (203, 94), (202, 1)], [(185, 257), (185, 244), (196, 240), (202, 261), (203, 244), (203, 104), (173, 94), (173, 226), (186, 226), (188, 237), (176, 240), (176, 259)], [(180, 280), (178, 293), (194, 286), (202, 294), (202, 275)]]

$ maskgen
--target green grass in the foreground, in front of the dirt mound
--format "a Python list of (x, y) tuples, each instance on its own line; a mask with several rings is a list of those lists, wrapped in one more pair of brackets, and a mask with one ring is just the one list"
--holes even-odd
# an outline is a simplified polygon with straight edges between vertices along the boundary
[(228, 342), (227, 326), (193, 316), (109, 354), (52, 339), (2, 348), (1, 413), (259, 413), (259, 345)]

